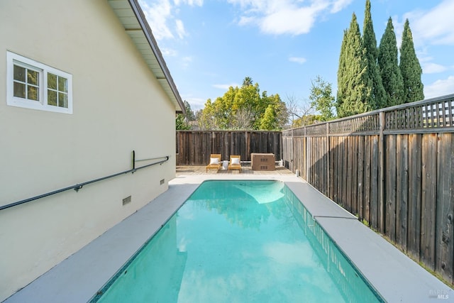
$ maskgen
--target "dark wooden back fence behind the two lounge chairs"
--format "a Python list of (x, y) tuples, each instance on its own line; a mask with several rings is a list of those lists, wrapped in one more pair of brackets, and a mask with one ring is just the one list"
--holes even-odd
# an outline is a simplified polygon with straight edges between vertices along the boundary
[(251, 153), (273, 153), (282, 158), (280, 131), (177, 131), (177, 163), (206, 165), (212, 153), (220, 153), (221, 160), (240, 155), (250, 161)]

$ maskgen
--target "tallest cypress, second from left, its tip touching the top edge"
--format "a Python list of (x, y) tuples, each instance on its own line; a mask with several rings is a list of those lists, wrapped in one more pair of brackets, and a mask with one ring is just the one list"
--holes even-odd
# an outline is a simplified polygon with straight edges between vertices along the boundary
[(370, 0), (366, 0), (365, 18), (362, 40), (366, 51), (367, 60), (367, 87), (372, 89), (372, 94), (365, 101), (370, 109), (382, 109), (386, 106), (386, 92), (382, 84), (382, 77), (377, 65), (377, 40), (375, 39), (372, 16), (370, 14)]

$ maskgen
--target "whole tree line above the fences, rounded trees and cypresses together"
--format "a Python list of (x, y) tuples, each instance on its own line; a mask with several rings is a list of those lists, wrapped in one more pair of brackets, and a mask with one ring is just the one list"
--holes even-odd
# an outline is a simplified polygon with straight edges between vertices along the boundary
[[(299, 109), (294, 97), (285, 104), (279, 94), (268, 96), (266, 91), (260, 92), (259, 84), (245, 77), (241, 87), (229, 87), (222, 97), (206, 101), (204, 109), (196, 113), (199, 128), (281, 130), (289, 117), (290, 127), (298, 127), (423, 99), (422, 69), (408, 19), (398, 58), (392, 18), (388, 19), (377, 47), (370, 10), (370, 0), (365, 0), (362, 35), (355, 13), (343, 33), (336, 99), (332, 96), (331, 83), (320, 76), (311, 80), (310, 104), (305, 99), (304, 109)], [(192, 111), (189, 113), (194, 116)], [(190, 119), (195, 118), (187, 117), (184, 121)], [(177, 120), (177, 123), (185, 127), (184, 121)]]

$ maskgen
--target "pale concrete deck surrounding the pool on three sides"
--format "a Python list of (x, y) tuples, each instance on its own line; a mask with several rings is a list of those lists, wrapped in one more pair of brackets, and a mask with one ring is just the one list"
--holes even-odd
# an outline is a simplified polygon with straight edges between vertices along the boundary
[[(179, 167), (161, 194), (5, 302), (87, 302), (205, 180), (279, 180), (299, 197), (387, 302), (454, 302), (454, 291), (289, 170), (204, 173)], [(444, 297), (438, 297), (442, 295)]]

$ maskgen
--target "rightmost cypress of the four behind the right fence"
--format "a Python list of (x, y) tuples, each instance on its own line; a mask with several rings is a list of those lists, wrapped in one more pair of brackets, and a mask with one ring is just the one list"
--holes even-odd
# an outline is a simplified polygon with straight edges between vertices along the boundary
[(402, 33), (399, 68), (404, 81), (404, 103), (423, 100), (424, 86), (421, 82), (423, 70), (414, 50), (409, 19), (406, 19), (404, 33)]

